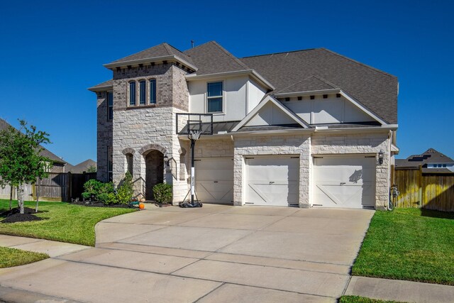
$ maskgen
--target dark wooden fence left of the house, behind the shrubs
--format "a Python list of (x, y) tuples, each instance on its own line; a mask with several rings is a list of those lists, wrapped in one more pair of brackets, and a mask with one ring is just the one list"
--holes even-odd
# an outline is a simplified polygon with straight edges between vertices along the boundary
[(71, 172), (51, 172), (49, 177), (38, 180), (33, 185), (33, 199), (39, 192), (40, 200), (65, 201), (80, 198), (84, 192), (84, 183), (96, 179), (96, 172), (72, 174)]

